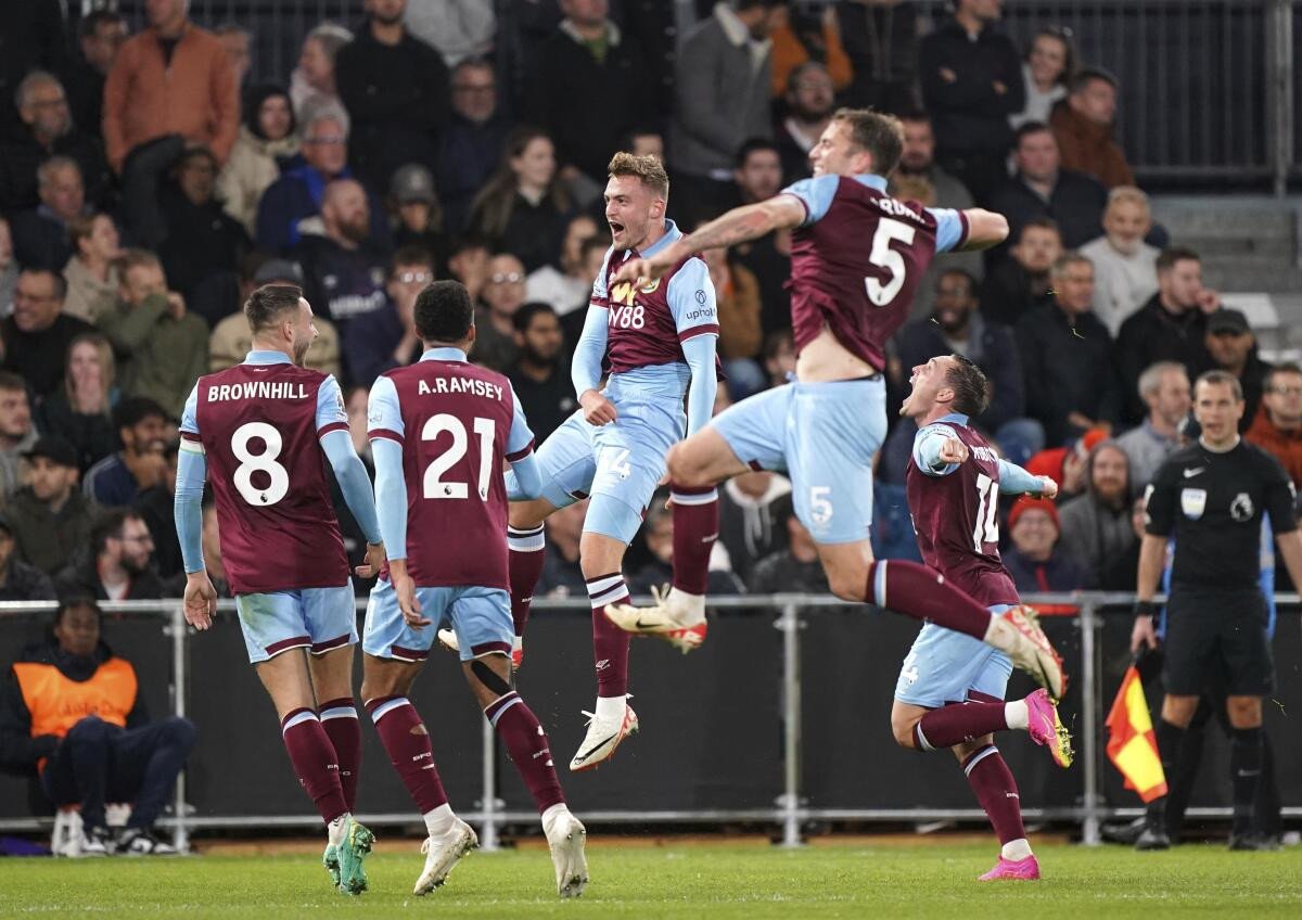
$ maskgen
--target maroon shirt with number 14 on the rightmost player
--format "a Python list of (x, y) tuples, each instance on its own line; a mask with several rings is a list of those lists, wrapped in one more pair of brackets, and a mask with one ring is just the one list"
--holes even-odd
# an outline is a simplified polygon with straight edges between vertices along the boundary
[(980, 604), (1017, 604), (1017, 587), (999, 558), (999, 455), (954, 422), (924, 426), (918, 437), (934, 431), (962, 441), (969, 458), (939, 476), (909, 459), (905, 483), (922, 560)]

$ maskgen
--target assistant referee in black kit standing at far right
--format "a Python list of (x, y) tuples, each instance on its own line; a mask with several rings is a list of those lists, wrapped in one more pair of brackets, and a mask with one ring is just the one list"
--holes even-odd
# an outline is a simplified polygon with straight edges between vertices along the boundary
[[(1198, 709), (1198, 697), (1216, 677), (1228, 691), (1232, 726), (1230, 776), (1234, 786), (1232, 850), (1263, 850), (1268, 843), (1253, 804), (1262, 776), (1262, 697), (1275, 681), (1266, 634), (1266, 599), (1259, 586), (1262, 514), (1271, 527), (1294, 584), (1302, 584), (1302, 532), (1293, 513), (1293, 484), (1280, 462), (1238, 436), (1243, 390), (1238, 379), (1210, 371), (1194, 384), (1197, 442), (1177, 450), (1154, 476), (1139, 549), (1135, 623), (1130, 648), (1156, 647), (1154, 592), (1167, 541), (1176, 539), (1163, 683), (1167, 697), (1157, 721), (1157, 752), (1173, 776), (1180, 744)], [(1148, 805), (1138, 850), (1165, 850), (1165, 796)]]

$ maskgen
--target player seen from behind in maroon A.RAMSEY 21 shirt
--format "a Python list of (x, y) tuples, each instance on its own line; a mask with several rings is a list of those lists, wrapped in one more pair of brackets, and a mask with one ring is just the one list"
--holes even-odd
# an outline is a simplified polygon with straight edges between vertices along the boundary
[(388, 371), (371, 388), (375, 494), (392, 556), (371, 591), (362, 642), (362, 700), (430, 834), (415, 894), (443, 885), (478, 845), (448, 805), (430, 735), (408, 699), (447, 621), (470, 690), (542, 815), (557, 893), (578, 897), (587, 885), (586, 832), (565, 805), (547, 735), (510, 686), (503, 462), (514, 467), (522, 497), (536, 496), (534, 435), (506, 377), (466, 363), (474, 306), (460, 282), (436, 281), (421, 291), (415, 331), (424, 345), (421, 360)]

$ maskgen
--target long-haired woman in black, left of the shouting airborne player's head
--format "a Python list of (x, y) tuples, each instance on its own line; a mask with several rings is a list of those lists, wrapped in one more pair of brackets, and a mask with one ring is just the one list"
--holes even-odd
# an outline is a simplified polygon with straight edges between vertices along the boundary
[(569, 193), (556, 176), (556, 152), (540, 130), (519, 128), (503, 150), (497, 170), (475, 196), (470, 228), (534, 271), (560, 260), (570, 212)]

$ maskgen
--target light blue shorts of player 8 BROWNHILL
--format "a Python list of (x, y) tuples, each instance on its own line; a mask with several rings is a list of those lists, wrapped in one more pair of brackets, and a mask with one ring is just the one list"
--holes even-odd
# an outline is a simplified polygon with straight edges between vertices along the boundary
[(352, 579), (337, 588), (236, 595), (236, 609), (253, 664), (292, 648), (324, 655), (357, 643)]

